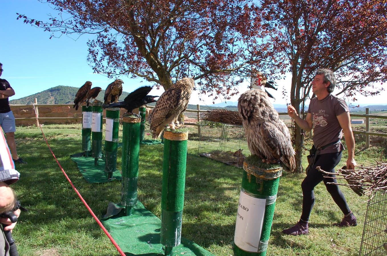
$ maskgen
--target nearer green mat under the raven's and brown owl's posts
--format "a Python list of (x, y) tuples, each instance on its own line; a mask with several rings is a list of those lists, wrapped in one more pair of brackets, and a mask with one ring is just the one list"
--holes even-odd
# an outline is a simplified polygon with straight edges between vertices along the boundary
[[(160, 244), (161, 220), (145, 209), (141, 202), (137, 201), (132, 215), (120, 214), (101, 222), (126, 255), (164, 255), (163, 245)], [(173, 255), (213, 254), (182, 237), (181, 244), (173, 248)]]

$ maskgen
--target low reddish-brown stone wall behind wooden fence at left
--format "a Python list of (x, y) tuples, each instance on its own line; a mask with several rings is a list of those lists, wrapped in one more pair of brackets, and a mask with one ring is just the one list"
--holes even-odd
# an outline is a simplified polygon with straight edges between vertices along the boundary
[[(15, 116), (16, 125), (34, 125), (36, 124), (35, 112), (33, 105), (10, 105)], [(39, 124), (74, 124), (82, 122), (82, 107), (78, 110), (73, 109), (72, 104), (56, 104), (56, 105), (37, 105), (39, 112)], [(146, 119), (148, 119), (149, 111), (146, 110)], [(103, 111), (103, 116), (106, 116), (106, 111)], [(120, 109), (120, 117), (126, 112), (125, 109)], [(138, 114), (139, 109), (135, 109), (134, 113)], [(32, 118), (31, 118), (32, 117)], [(45, 117), (55, 117), (55, 119), (45, 119)], [(58, 119), (58, 117), (60, 117)], [(22, 119), (18, 119), (22, 118)]]

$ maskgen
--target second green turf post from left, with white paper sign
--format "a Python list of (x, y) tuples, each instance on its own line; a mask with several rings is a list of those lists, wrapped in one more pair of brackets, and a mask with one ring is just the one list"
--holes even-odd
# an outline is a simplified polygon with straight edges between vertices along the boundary
[(99, 100), (94, 100), (92, 107), (91, 139), (94, 165), (98, 165), (98, 159), (102, 157), (102, 105)]

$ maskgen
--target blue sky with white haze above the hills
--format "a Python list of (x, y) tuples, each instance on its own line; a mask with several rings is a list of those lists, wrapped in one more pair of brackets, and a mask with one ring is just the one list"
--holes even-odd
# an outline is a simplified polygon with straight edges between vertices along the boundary
[[(57, 14), (49, 5), (38, 0), (2, 1), (0, 62), (3, 63), (4, 71), (1, 78), (7, 79), (15, 90), (16, 94), (10, 99), (26, 97), (58, 85), (80, 87), (85, 81), (92, 81), (93, 87), (105, 89), (113, 81), (104, 75), (94, 74), (87, 63), (88, 35), (81, 36), (76, 41), (67, 36), (49, 39), (50, 32), (24, 24), (23, 20), (16, 20), (16, 13), (38, 20), (48, 20), (49, 13), (53, 16)], [(143, 79), (131, 79), (126, 76), (119, 78), (124, 81), (123, 90), (126, 92), (132, 92), (140, 86), (152, 85)], [(276, 97), (273, 103), (286, 104), (281, 92), (283, 86), (289, 85), (290, 79), (286, 77), (285, 80), (279, 81), (277, 92), (271, 90)], [(238, 90), (245, 92), (247, 86), (246, 80)], [(196, 92), (191, 97), (191, 104), (212, 104), (212, 98), (205, 95), (200, 97)], [(161, 93), (163, 89), (153, 89), (150, 94), (161, 95)], [(230, 101), (235, 102), (238, 97), (235, 96)], [(367, 98), (356, 95), (356, 98), (358, 98), (356, 105), (386, 104), (387, 92)], [(217, 100), (215, 103), (221, 101), (224, 100)], [(287, 101), (290, 102), (289, 99)]]

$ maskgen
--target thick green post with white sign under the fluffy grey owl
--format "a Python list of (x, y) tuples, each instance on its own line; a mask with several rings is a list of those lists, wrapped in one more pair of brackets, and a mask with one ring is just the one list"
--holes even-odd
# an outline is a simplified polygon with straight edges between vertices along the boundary
[(265, 256), (276, 205), (279, 164), (266, 164), (257, 156), (243, 163), (242, 188), (234, 235), (235, 256)]

